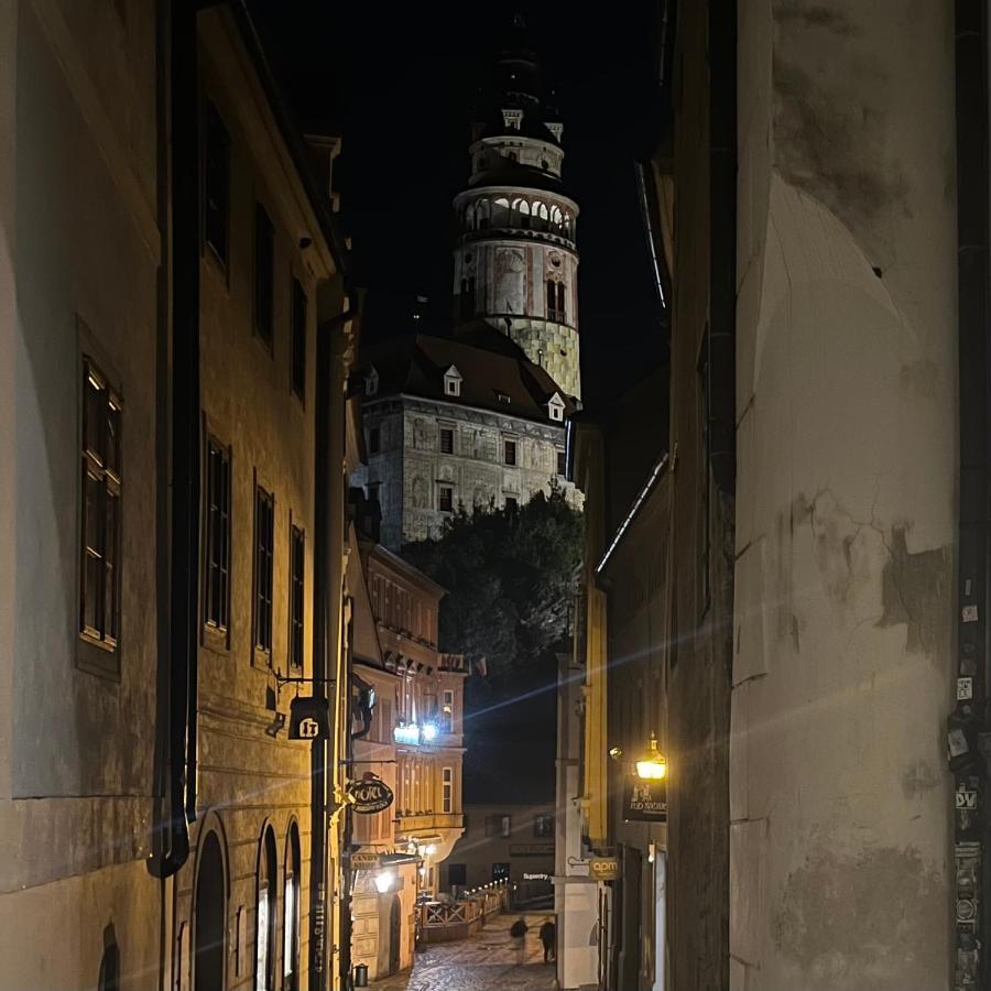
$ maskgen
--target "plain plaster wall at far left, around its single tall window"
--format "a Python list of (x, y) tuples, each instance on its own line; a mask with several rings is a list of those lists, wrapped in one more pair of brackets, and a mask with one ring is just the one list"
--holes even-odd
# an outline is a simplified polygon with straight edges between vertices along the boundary
[[(0, 3), (0, 958), (154, 981), (159, 333), (154, 4)], [(84, 353), (122, 413), (121, 634), (78, 638)], [(98, 650), (98, 649), (96, 649)], [(110, 928), (108, 928), (110, 927)]]

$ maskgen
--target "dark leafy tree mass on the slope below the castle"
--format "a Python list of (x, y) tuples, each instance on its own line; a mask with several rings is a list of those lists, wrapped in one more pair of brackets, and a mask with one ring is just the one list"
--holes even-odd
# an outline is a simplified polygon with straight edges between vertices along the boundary
[(565, 635), (581, 532), (581, 514), (552, 483), (519, 508), (459, 505), (439, 537), (407, 544), (403, 556), (448, 590), (442, 647), (484, 660), (490, 684), (535, 667)]

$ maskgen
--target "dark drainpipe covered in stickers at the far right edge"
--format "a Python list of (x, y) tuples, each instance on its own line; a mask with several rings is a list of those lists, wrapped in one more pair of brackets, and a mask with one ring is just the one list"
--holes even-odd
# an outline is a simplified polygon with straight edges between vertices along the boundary
[[(960, 496), (957, 707), (949, 717), (955, 777), (956, 919), (954, 991), (988, 987), (989, 230), (988, 28), (985, 0), (956, 3), (957, 298), (959, 313)], [(961, 696), (963, 696), (961, 698)]]

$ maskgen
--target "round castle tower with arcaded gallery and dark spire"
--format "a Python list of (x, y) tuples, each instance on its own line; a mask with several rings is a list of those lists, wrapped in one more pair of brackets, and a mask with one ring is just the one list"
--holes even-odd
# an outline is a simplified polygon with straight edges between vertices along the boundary
[(496, 100), (472, 126), (468, 188), (454, 200), (456, 333), (494, 328), (580, 399), (578, 205), (562, 187), (564, 128), (520, 18), (515, 31), (497, 63)]

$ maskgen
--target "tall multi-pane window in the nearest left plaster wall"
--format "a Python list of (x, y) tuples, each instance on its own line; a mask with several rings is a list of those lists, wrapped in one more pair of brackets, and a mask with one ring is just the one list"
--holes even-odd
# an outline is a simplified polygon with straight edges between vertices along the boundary
[(111, 651), (120, 636), (120, 400), (85, 359), (79, 632)]

